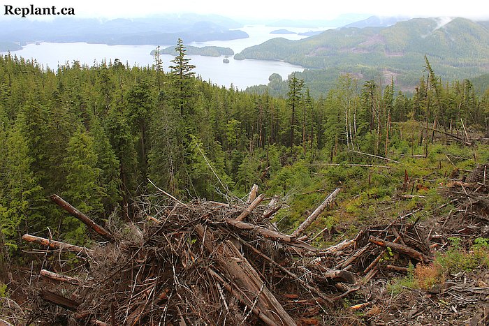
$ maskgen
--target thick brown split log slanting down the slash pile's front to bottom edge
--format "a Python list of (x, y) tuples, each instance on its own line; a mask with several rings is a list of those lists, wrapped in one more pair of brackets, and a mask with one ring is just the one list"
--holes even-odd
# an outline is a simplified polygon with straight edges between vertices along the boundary
[[(251, 305), (247, 303), (249, 308), (258, 309), (257, 311), (261, 311), (276, 325), (295, 325), (289, 313), (265, 286), (258, 272), (231, 241), (227, 240), (216, 247), (212, 241), (214, 235), (211, 230), (205, 230), (202, 225), (196, 225), (196, 231), (204, 248), (214, 255), (216, 267), (228, 275), (238, 290), (253, 296), (253, 299), (247, 298), (247, 302), (253, 302)], [(257, 316), (260, 317), (261, 314)], [(266, 322), (263, 318), (262, 320)]]

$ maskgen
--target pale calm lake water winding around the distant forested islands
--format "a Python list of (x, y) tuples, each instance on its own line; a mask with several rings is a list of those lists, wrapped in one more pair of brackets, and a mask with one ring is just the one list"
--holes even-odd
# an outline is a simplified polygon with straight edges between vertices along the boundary
[[(202, 43), (189, 43), (194, 46), (216, 45), (221, 47), (231, 47), (235, 53), (242, 51), (245, 47), (257, 45), (275, 37), (284, 37), (290, 40), (298, 40), (304, 36), (296, 34), (276, 35), (270, 34), (270, 31), (280, 29), (279, 27), (249, 26), (241, 28), (242, 31), (249, 34), (249, 38), (240, 40), (210, 41)], [(311, 29), (287, 28), (289, 31), (296, 33), (309, 31)], [(173, 45), (161, 45), (167, 47)], [(119, 59), (129, 66), (152, 66), (153, 57), (149, 54), (156, 48), (156, 45), (105, 45), (105, 44), (87, 44), (87, 43), (39, 43), (29, 44), (22, 50), (12, 52), (25, 59), (33, 59), (45, 68), (56, 69), (59, 64), (73, 63), (80, 61), (81, 64), (93, 66), (103, 60), (114, 61)], [(3, 53), (5, 54), (5, 53)], [(272, 73), (278, 73), (286, 79), (294, 71), (303, 71), (301, 66), (294, 66), (281, 61), (263, 61), (263, 60), (242, 60), (238, 61), (229, 57), (229, 63), (224, 64), (224, 57), (203, 57), (187, 56), (191, 59), (191, 64), (196, 65), (194, 71), (200, 75), (203, 80), (218, 84), (224, 87), (233, 87), (245, 89), (246, 87), (256, 84), (268, 84), (268, 77)], [(163, 54), (163, 67), (170, 66), (170, 60), (173, 56)], [(164, 68), (163, 68), (164, 69)], [(165, 69), (169, 71), (168, 68)]]

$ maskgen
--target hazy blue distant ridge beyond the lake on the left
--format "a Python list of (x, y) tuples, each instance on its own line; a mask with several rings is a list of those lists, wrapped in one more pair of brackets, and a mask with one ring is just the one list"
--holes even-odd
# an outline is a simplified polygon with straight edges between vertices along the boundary
[[(73, 19), (53, 21), (0, 20), (0, 44), (87, 42), (108, 45), (171, 45), (177, 38), (185, 43), (234, 40), (249, 37), (235, 30), (242, 24), (219, 15), (157, 15), (136, 19)], [(8, 50), (1, 49), (0, 50)], [(15, 49), (18, 50), (18, 49)]]

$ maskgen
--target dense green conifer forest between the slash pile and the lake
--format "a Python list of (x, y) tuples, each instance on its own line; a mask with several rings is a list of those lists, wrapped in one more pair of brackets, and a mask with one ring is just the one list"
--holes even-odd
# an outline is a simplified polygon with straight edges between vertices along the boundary
[(254, 183), (291, 196), (353, 177), (336, 168), (314, 176), (323, 164), (372, 160), (357, 151), (430, 157), (433, 130), (488, 130), (488, 91), (479, 97), (469, 80), (442, 82), (428, 60), (412, 97), (344, 75), (323, 98), (291, 76), (281, 99), (198, 80), (182, 43), (177, 52), (171, 73), (157, 55), (152, 67), (116, 60), (57, 71), (0, 58), (0, 221), (14, 251), (24, 232), (46, 227), (87, 241), (80, 223), (48, 204), (53, 193), (100, 221), (115, 210), (128, 221), (147, 178), (187, 200), (239, 197)]

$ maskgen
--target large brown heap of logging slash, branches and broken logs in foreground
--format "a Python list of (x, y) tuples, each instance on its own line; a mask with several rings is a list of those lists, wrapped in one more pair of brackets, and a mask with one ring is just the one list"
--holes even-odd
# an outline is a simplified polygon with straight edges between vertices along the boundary
[[(306, 230), (340, 188), (291, 235), (270, 222), (281, 208), (279, 200), (265, 199), (256, 188), (246, 202), (233, 203), (184, 203), (158, 189), (140, 201), (140, 222), (117, 227), (108, 223), (105, 228), (53, 195), (57, 205), (103, 241), (85, 248), (24, 235), (25, 241), (36, 243), (33, 246), (47, 247), (45, 252), (60, 257), (68, 252), (64, 255), (85, 262), (71, 272), (33, 270), (33, 276), (39, 277), (24, 290), (29, 306), (24, 321), (36, 325), (411, 324), (422, 313), (397, 317), (392, 313), (391, 324), (382, 321), (390, 310), (385, 297), (376, 297), (379, 282), (374, 280), (405, 275), (409, 265), (429, 264), (435, 250), (446, 246), (455, 232), (487, 237), (486, 170), (485, 165), (474, 171), (473, 179), (451, 185), (446, 195), (457, 209), (431, 226), (419, 221), (418, 208), (327, 249), (310, 245)], [(454, 229), (455, 221), (465, 225), (463, 230)], [(344, 299), (360, 303), (346, 305)], [(355, 315), (360, 309), (367, 309), (366, 317)]]

